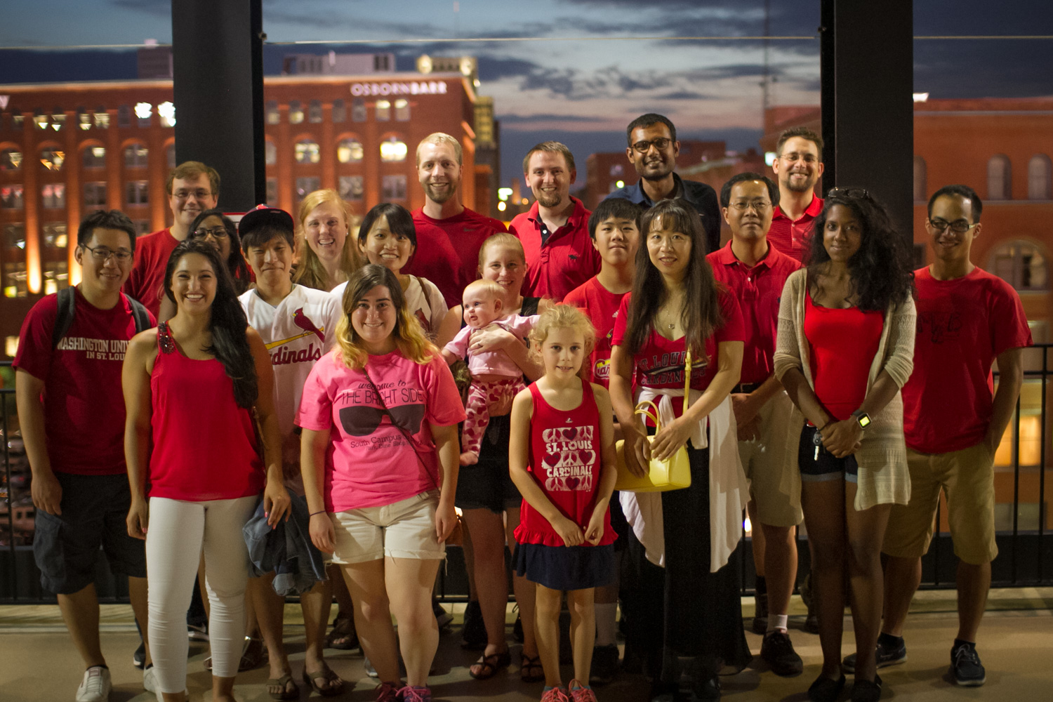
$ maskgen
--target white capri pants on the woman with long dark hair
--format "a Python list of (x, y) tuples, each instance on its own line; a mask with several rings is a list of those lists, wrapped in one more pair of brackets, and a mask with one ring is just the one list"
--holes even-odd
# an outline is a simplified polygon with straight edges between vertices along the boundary
[(158, 690), (186, 689), (186, 609), (204, 547), (205, 588), (212, 605), (208, 642), (212, 674), (238, 673), (245, 638), (245, 583), (249, 548), (244, 526), (259, 497), (183, 502), (150, 498), (146, 530), (146, 585), (150, 602), (150, 648)]

